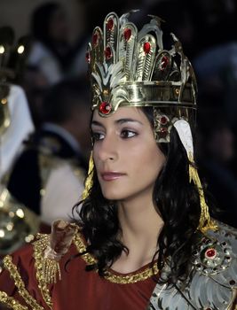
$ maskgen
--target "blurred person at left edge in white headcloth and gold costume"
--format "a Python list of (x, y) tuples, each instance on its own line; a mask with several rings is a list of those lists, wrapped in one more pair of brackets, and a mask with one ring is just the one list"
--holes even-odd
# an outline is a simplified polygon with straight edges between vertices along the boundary
[[(24, 90), (12, 83), (20, 74), (23, 45), (14, 43), (10, 27), (0, 28), (0, 264), (1, 257), (30, 242), (39, 227), (35, 213), (6, 189), (15, 159), (34, 132)], [(12, 62), (12, 60), (14, 61)]]

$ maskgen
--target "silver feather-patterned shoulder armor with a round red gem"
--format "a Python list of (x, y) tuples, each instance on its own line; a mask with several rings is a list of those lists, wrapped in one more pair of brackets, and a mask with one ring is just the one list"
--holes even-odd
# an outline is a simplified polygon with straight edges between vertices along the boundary
[(186, 284), (157, 284), (148, 309), (237, 309), (237, 229), (217, 226), (195, 246)]

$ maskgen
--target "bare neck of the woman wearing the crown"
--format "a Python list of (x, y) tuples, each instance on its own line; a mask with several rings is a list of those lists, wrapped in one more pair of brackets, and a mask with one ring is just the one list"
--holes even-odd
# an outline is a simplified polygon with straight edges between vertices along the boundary
[(132, 272), (153, 260), (163, 221), (152, 199), (145, 197), (120, 202), (118, 216), (121, 241), (129, 249), (129, 255), (122, 252), (113, 268), (122, 273)]

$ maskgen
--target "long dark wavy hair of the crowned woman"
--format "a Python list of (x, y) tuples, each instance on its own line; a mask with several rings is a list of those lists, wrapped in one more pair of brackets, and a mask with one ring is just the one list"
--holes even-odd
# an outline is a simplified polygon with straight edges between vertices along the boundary
[[(153, 108), (146, 107), (142, 110), (151, 126), (154, 126)], [(164, 221), (157, 240), (157, 264), (162, 270), (164, 262), (170, 258), (168, 281), (176, 283), (178, 279), (184, 279), (188, 275), (188, 262), (201, 214), (200, 198), (194, 183), (189, 182), (189, 161), (175, 128), (171, 129), (170, 143), (159, 143), (158, 147), (165, 155), (166, 163), (154, 186), (156, 211)], [(74, 212), (79, 213), (81, 218), (79, 225), (89, 244), (87, 252), (98, 260), (96, 265), (87, 269), (98, 269), (99, 275), (103, 276), (107, 267), (113, 265), (122, 251), (128, 252), (129, 249), (119, 240), (121, 227), (117, 204), (103, 197), (95, 169), (90, 195), (75, 205)]]

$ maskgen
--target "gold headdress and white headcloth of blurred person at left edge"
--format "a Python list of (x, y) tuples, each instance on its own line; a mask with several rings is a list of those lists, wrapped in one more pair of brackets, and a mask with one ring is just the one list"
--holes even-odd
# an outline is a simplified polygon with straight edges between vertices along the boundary
[[(15, 81), (26, 48), (15, 43), (12, 27), (0, 27), (0, 181), (12, 168), (23, 141), (34, 131), (25, 91)], [(20, 40), (19, 40), (20, 41)]]

